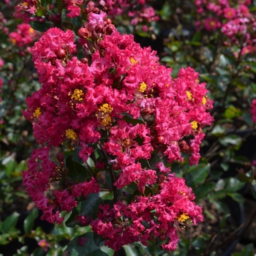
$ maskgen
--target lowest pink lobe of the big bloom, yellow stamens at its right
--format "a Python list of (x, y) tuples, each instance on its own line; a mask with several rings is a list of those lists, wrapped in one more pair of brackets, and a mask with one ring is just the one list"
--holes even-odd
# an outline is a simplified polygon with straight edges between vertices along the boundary
[(195, 195), (183, 178), (169, 176), (160, 187), (157, 195), (136, 196), (129, 205), (118, 201), (113, 208), (108, 204), (99, 206), (98, 219), (91, 221), (92, 229), (116, 251), (135, 241), (148, 246), (154, 238), (169, 238), (162, 248), (176, 249), (177, 230), (184, 230), (188, 220), (194, 225), (202, 222), (202, 208), (192, 202)]

